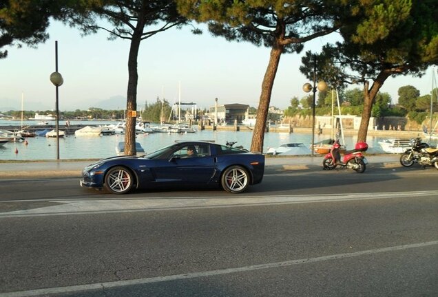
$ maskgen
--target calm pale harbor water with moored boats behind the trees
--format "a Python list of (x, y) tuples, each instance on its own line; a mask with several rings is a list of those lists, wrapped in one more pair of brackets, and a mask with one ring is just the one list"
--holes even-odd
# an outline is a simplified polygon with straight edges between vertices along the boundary
[[(33, 126), (35, 122), (24, 122), (23, 126)], [(74, 122), (72, 124), (84, 125), (105, 125), (114, 124), (114, 122)], [(16, 125), (17, 129), (21, 127), (20, 121), (0, 120), (0, 125)], [(44, 129), (41, 126), (41, 129)], [(330, 135), (315, 135), (315, 142), (326, 140)], [(345, 145), (347, 149), (352, 149), (356, 143), (355, 135), (345, 136)], [(56, 138), (48, 137), (29, 137), (26, 142), (8, 142), (0, 146), (0, 160), (53, 160), (56, 159), (57, 144)], [(138, 134), (136, 142), (139, 142), (145, 149), (146, 153), (152, 153), (158, 148), (167, 146), (175, 141), (181, 140), (207, 140), (217, 144), (225, 144), (227, 141), (237, 142), (236, 146), (242, 145), (244, 148), (251, 147), (251, 131), (211, 131), (203, 130), (196, 133), (150, 133)], [(379, 146), (382, 137), (368, 136), (368, 153), (384, 153)], [(118, 142), (125, 141), (124, 135), (104, 135), (104, 136), (75, 136), (66, 135), (65, 138), (59, 139), (59, 157), (60, 159), (101, 159), (116, 155), (116, 146)], [(301, 142), (310, 146), (312, 141), (311, 133), (274, 133), (269, 132), (264, 135), (264, 149), (266, 152), (269, 147), (276, 147), (280, 144), (289, 142)]]

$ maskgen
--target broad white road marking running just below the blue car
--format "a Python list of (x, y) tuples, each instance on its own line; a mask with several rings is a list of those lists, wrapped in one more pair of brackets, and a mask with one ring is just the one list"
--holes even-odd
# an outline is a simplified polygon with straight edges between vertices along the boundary
[[(330, 195), (281, 195), (281, 196), (236, 196), (236, 197), (175, 197), (175, 198), (136, 198), (136, 199), (92, 199), (92, 200), (25, 200), (59, 203), (55, 206), (32, 208), (0, 213), (0, 219), (11, 217), (38, 217), (50, 215), (105, 214), (110, 212), (145, 212), (157, 210), (183, 210), (200, 208), (224, 208), (234, 206), (261, 206), (291, 203), (337, 202), (367, 199), (394, 199), (401, 197), (435, 197), (438, 190), (412, 192), (377, 192)], [(2, 201), (2, 203), (22, 202)]]

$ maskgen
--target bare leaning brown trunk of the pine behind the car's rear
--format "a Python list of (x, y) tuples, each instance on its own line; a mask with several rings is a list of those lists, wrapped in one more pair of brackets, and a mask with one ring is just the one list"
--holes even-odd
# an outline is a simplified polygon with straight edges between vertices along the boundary
[(264, 131), (266, 130), (269, 103), (271, 102), (273, 83), (275, 80), (275, 74), (277, 74), (278, 64), (280, 63), (282, 49), (282, 45), (273, 45), (269, 64), (264, 74), (262, 94), (260, 94), (260, 101), (257, 109), (257, 121), (255, 122), (253, 139), (251, 141), (251, 152), (253, 153), (263, 152)]

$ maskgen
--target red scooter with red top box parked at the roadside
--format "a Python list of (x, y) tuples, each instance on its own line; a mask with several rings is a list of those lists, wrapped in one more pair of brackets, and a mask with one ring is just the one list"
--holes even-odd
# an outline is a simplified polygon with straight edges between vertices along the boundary
[[(330, 153), (324, 156), (324, 160), (322, 161), (322, 167), (326, 170), (331, 170), (340, 166), (341, 168), (351, 168), (355, 170), (357, 173), (364, 173), (366, 169), (366, 164), (368, 164), (368, 160), (362, 154), (362, 152), (368, 149), (368, 144), (365, 142), (357, 142), (355, 145), (355, 149), (351, 151), (345, 151), (344, 157), (341, 160), (340, 154), (340, 143), (338, 140), (333, 144)], [(333, 155), (335, 155), (333, 157)]]

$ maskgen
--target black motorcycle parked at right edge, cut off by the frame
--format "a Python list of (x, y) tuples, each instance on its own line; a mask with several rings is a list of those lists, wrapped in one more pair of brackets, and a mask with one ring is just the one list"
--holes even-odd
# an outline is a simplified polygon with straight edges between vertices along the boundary
[(429, 146), (426, 142), (421, 142), (421, 138), (410, 140), (408, 148), (400, 156), (400, 164), (405, 167), (413, 166), (418, 163), (423, 167), (435, 166), (438, 169), (438, 148)]

